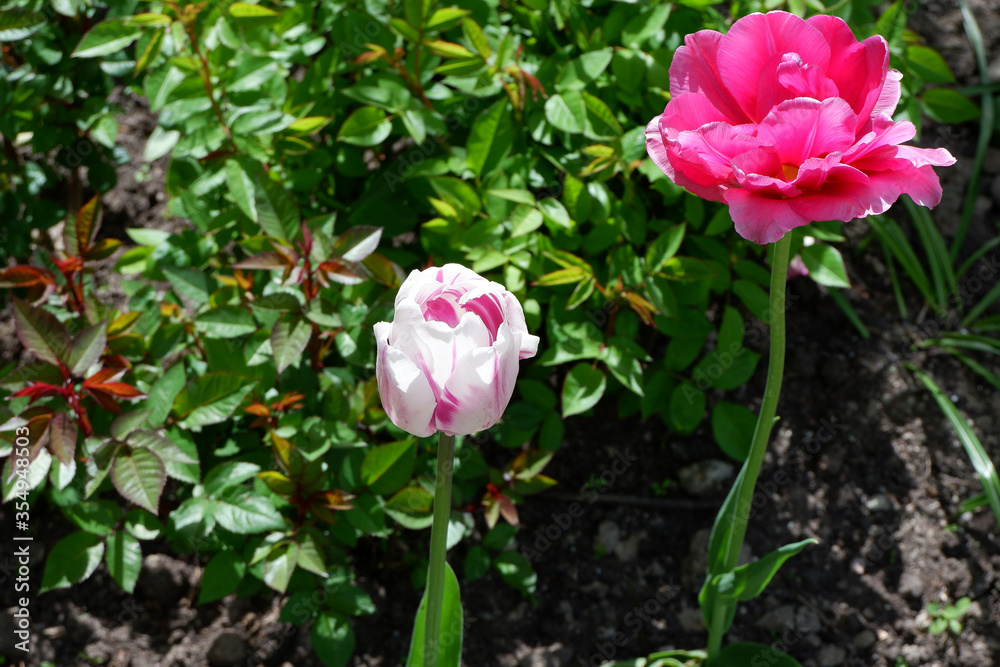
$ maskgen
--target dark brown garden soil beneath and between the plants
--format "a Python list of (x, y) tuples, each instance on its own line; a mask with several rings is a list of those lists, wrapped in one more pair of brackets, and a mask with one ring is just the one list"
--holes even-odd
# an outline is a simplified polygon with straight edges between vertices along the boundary
[[(992, 0), (969, 4), (1000, 69), (1000, 15)], [(954, 2), (921, 3), (910, 27), (945, 56), (961, 82), (978, 81)], [(142, 109), (129, 117), (136, 132), (151, 129)], [(927, 126), (921, 138), (959, 159), (940, 171), (945, 200), (934, 217), (946, 235), (949, 221), (959, 217), (977, 132), (975, 123)], [(109, 206), (121, 216), (121, 228), (172, 224), (161, 216), (162, 202), (149, 198), (155, 174), (148, 186), (128, 185), (134, 178), (127, 169), (119, 176), (121, 199)], [(994, 148), (967, 249), (997, 233), (997, 207), (1000, 150)], [(988, 510), (961, 510), (981, 491), (978, 480), (904, 363), (930, 373), (957, 401), (994, 461), (1000, 461), (1000, 395), (947, 354), (915, 350), (914, 342), (955, 323), (922, 311), (913, 293), (907, 293), (909, 319), (899, 317), (881, 253), (859, 247), (866, 231), (863, 221), (845, 225), (850, 241), (844, 249), (853, 284), (848, 297), (870, 338), (863, 339), (812, 281), (789, 284), (781, 420), (744, 557), (807, 537), (818, 544), (789, 561), (764, 595), (740, 606), (728, 641), (773, 643), (806, 667), (1000, 664), (1000, 532)], [(981, 295), (1000, 275), (1000, 251), (987, 254), (976, 272), (983, 279), (965, 287)], [(758, 351), (766, 353), (766, 346)], [(986, 362), (1000, 372), (1000, 364)], [(756, 409), (765, 365), (762, 360), (757, 376), (727, 400)], [(600, 665), (705, 644), (697, 595), (707, 531), (735, 467), (724, 461), (707, 424), (676, 437), (658, 419), (619, 419), (613, 402), (605, 401), (597, 413), (567, 420), (566, 442), (546, 470), (559, 480), (557, 490), (519, 508), (516, 548), (533, 550), (535, 600), (495, 571), (463, 583), (465, 664)], [(574, 503), (582, 512), (570, 516)], [(477, 521), (485, 530), (481, 516)], [(68, 531), (64, 523), (51, 521), (44, 542), (36, 543), (35, 571), (45, 548)], [(423, 549), (425, 539), (413, 535), (411, 547)], [(450, 554), (453, 563), (462, 562), (463, 549)], [(27, 664), (319, 665), (308, 633), (278, 621), (279, 598), (230, 596), (196, 606), (202, 567), (194, 557), (153, 553), (134, 596), (122, 593), (103, 568), (71, 590), (46, 594), (34, 610), (37, 643)], [(378, 611), (354, 621), (353, 666), (395, 667), (407, 650), (419, 592), (407, 572), (369, 571), (361, 560), (358, 568), (359, 584)], [(9, 558), (0, 563), (0, 580), (12, 569)], [(9, 607), (10, 587), (0, 591), (0, 603)], [(961, 633), (930, 634), (928, 604), (965, 596), (972, 605)], [(16, 659), (11, 623), (0, 612), (0, 654)]]

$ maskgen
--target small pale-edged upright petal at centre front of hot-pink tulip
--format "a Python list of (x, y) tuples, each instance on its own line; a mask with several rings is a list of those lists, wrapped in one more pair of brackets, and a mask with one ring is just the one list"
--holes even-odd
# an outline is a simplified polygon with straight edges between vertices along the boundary
[(857, 118), (844, 100), (800, 97), (782, 102), (768, 114), (758, 136), (775, 147), (782, 163), (798, 167), (810, 157), (849, 148), (856, 126)]

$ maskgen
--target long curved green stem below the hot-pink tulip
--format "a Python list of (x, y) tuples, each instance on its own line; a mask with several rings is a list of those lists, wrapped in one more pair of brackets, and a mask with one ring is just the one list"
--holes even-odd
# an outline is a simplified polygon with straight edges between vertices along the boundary
[[(713, 532), (718, 530), (719, 524), (723, 521), (732, 522), (729, 539), (723, 544), (721, 572), (728, 572), (739, 565), (743, 539), (747, 532), (747, 521), (750, 518), (749, 508), (753, 503), (754, 487), (757, 486), (760, 466), (764, 462), (767, 442), (771, 437), (771, 427), (774, 425), (774, 416), (778, 410), (781, 378), (785, 371), (785, 283), (788, 278), (788, 255), (791, 244), (792, 235), (785, 234), (774, 244), (771, 254), (771, 300), (768, 313), (771, 327), (771, 353), (767, 362), (767, 385), (764, 388), (764, 400), (761, 402), (760, 415), (757, 417), (757, 426), (754, 428), (750, 453), (736, 478), (736, 483), (729, 492), (730, 496), (735, 495), (736, 504), (732, 506), (727, 498), (723, 505), (723, 512), (731, 511), (730, 508), (734, 508), (735, 511), (729, 517), (720, 516), (716, 520), (715, 529), (713, 529)], [(713, 574), (717, 573), (710, 573), (709, 576)], [(716, 598), (715, 607), (712, 610), (712, 625), (708, 630), (709, 664), (712, 664), (712, 661), (718, 657), (722, 648), (722, 636), (726, 632), (731, 609), (732, 603)]]

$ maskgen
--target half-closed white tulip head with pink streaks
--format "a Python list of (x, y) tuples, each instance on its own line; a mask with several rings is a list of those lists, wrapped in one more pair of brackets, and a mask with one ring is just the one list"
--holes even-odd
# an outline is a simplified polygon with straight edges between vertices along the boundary
[(421, 437), (496, 424), (514, 393), (518, 360), (538, 351), (517, 298), (459, 264), (412, 272), (392, 322), (377, 323), (374, 333), (382, 405), (396, 426)]

